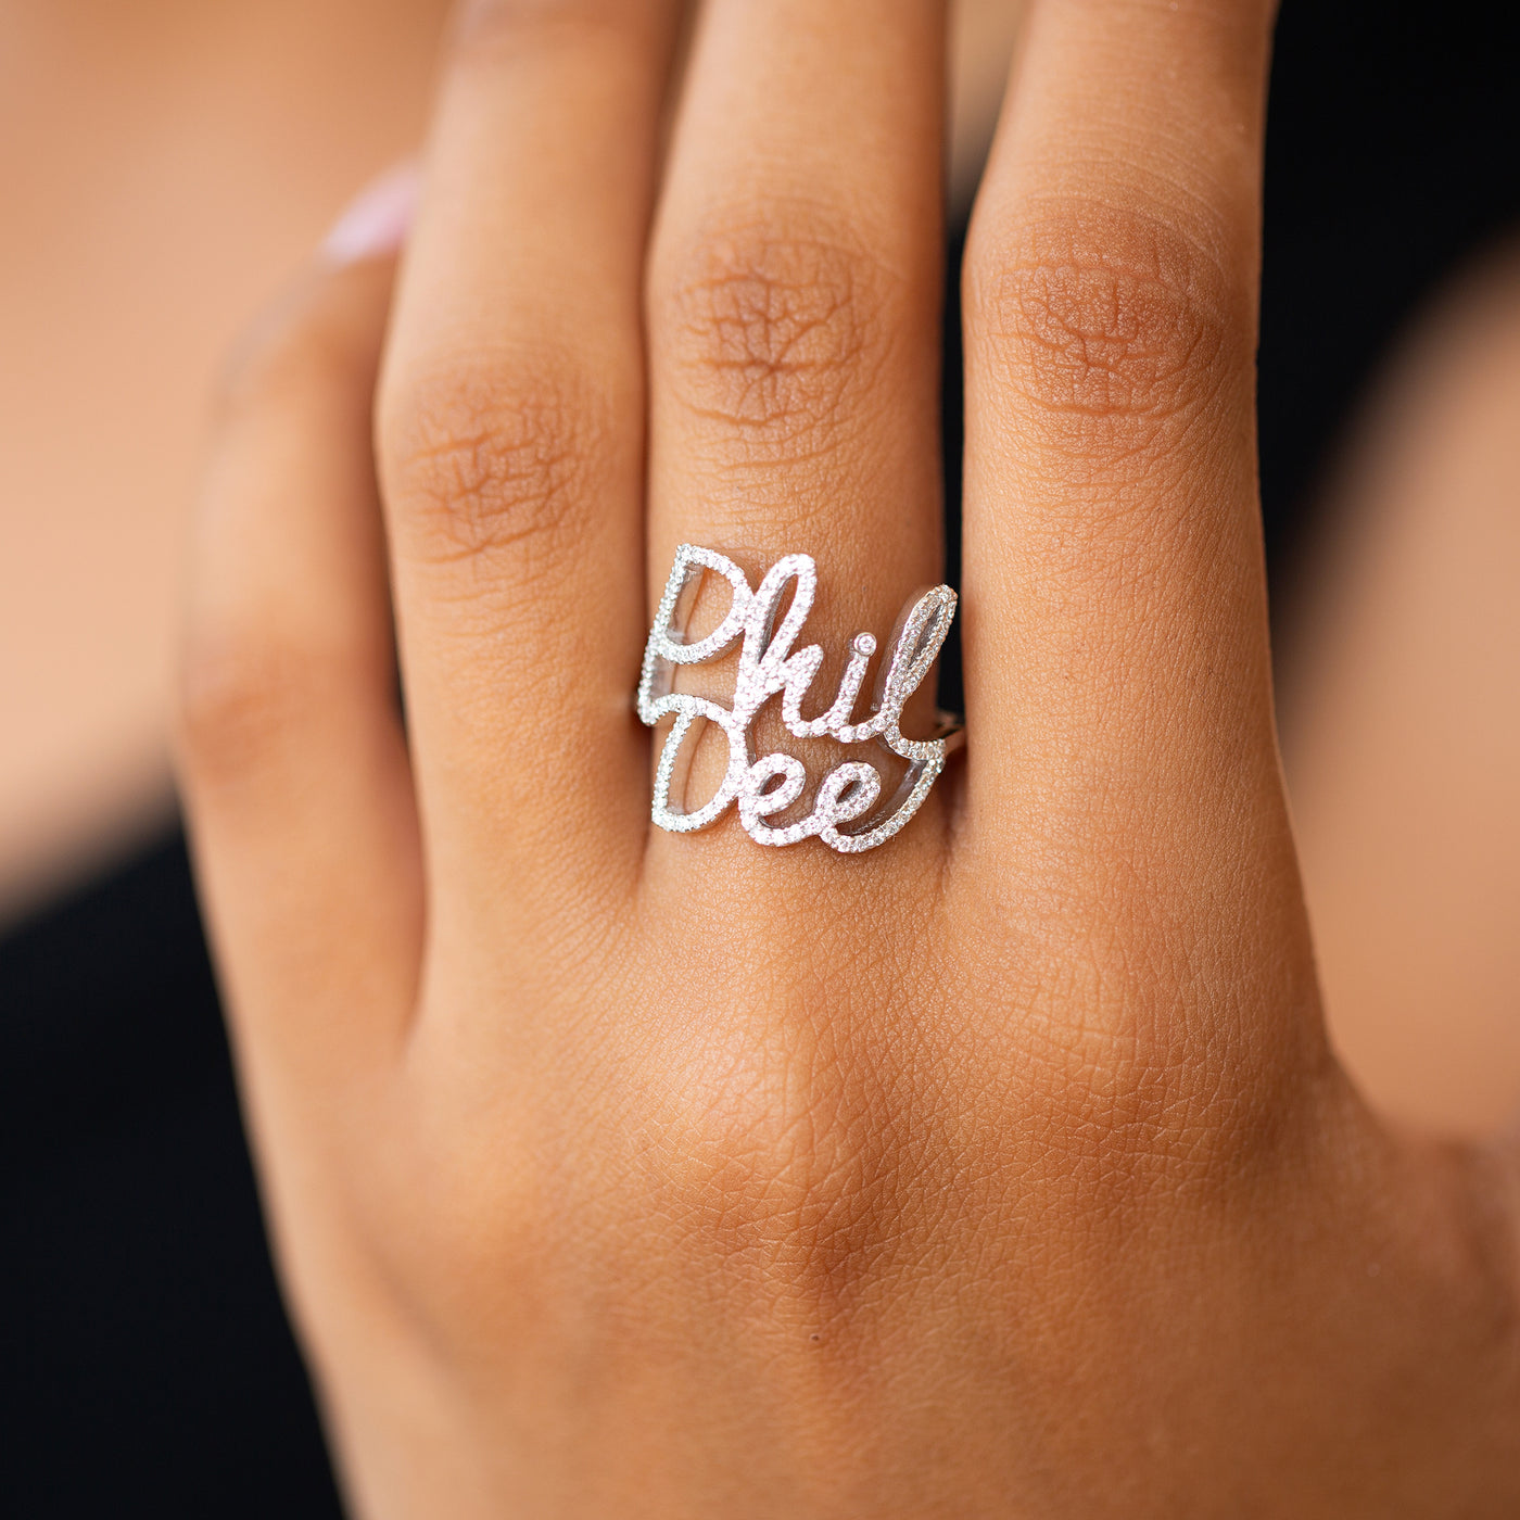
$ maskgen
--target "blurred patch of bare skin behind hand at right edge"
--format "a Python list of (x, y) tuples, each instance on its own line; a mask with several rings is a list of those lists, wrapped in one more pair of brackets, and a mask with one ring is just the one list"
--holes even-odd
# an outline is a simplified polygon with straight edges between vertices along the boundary
[(1339, 1046), (1382, 1102), (1468, 1135), (1520, 1114), (1517, 415), (1509, 246), (1444, 293), (1371, 398), (1283, 692)]

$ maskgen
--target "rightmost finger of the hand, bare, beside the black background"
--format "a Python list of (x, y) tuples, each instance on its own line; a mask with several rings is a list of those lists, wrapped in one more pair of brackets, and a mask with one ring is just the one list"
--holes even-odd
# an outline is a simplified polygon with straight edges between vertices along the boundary
[(1058, 866), (1088, 944), (1117, 871), (1126, 932), (1237, 932), (1237, 964), (1265, 938), (1281, 970), (1307, 941), (1256, 491), (1271, 18), (1034, 5), (967, 255), (962, 588), (967, 839), (1005, 883)]

